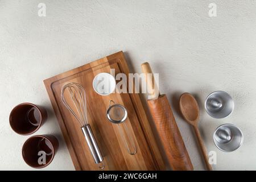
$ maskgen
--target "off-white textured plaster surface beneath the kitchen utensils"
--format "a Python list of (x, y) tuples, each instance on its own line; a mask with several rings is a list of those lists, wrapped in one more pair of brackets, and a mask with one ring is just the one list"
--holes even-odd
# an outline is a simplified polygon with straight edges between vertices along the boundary
[[(38, 3), (46, 3), (46, 17)], [(208, 5), (217, 5), (209, 18)], [(256, 169), (256, 2), (255, 1), (47, 1), (0, 0), (0, 169), (32, 169), (22, 159), (28, 138), (14, 133), (9, 113), (20, 102), (47, 107), (49, 119), (36, 134), (54, 134), (60, 150), (44, 169), (74, 169), (43, 80), (123, 50), (133, 72), (144, 60), (160, 73), (195, 169), (204, 169), (193, 132), (177, 112), (183, 92), (197, 96), (200, 129), (208, 151), (217, 152), (219, 170)], [(207, 95), (225, 90), (234, 113), (210, 118)], [(234, 123), (243, 146), (224, 153), (214, 146), (213, 131)]]

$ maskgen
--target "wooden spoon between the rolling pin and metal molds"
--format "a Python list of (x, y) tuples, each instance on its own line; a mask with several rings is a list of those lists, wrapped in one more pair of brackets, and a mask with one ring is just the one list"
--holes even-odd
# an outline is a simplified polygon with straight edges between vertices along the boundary
[(195, 129), (196, 137), (199, 142), (199, 146), (204, 156), (205, 164), (209, 171), (212, 171), (212, 166), (208, 162), (207, 150), (205, 149), (203, 139), (201, 138), (200, 131), (198, 128), (199, 122), (199, 106), (196, 99), (189, 93), (184, 93), (180, 96), (179, 101), (180, 111), (185, 118), (185, 120), (193, 126)]

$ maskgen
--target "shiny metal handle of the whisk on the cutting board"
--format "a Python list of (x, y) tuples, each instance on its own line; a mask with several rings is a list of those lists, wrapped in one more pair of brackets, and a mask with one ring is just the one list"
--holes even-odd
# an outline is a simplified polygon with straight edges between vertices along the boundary
[(103, 157), (101, 155), (100, 149), (98, 148), (98, 144), (96, 142), (96, 139), (94, 138), (90, 125), (82, 126), (81, 129), (86, 139), (86, 142), (90, 148), (90, 152), (92, 153), (94, 162), (96, 164), (101, 163), (103, 160)]

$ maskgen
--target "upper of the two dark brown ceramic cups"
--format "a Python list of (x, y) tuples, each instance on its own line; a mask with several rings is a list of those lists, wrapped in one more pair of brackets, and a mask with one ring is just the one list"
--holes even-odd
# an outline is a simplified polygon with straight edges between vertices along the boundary
[(47, 111), (38, 105), (22, 103), (10, 113), (11, 128), (20, 135), (35, 133), (47, 119)]

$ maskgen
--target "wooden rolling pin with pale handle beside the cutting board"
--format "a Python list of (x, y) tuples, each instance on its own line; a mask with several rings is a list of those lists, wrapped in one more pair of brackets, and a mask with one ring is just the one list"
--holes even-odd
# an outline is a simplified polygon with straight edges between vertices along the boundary
[[(155, 84), (154, 76), (152, 75), (150, 64), (143, 63), (141, 67), (142, 72), (146, 76), (147, 88), (153, 90), (153, 92), (148, 93), (150, 100), (147, 100), (147, 104), (154, 119), (164, 151), (166, 152), (168, 162), (172, 170), (192, 171), (193, 166), (177, 127), (174, 114), (172, 114), (168, 99), (165, 94), (160, 95), (158, 86)], [(151, 74), (147, 75), (148, 73)], [(151, 75), (152, 78), (148, 79), (148, 76)]]

